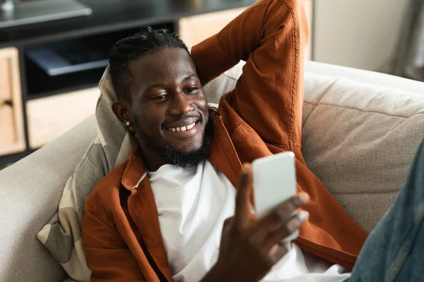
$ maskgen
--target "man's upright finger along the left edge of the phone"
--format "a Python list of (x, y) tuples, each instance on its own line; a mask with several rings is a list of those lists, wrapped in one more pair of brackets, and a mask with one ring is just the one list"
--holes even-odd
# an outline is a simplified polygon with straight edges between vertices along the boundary
[(244, 223), (249, 216), (250, 197), (252, 193), (252, 166), (243, 164), (242, 173), (237, 185), (237, 195), (235, 197), (234, 221), (237, 224)]

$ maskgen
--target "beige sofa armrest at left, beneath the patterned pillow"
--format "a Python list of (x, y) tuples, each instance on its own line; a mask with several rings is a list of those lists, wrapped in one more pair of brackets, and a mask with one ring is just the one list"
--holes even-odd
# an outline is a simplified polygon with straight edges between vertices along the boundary
[(95, 117), (0, 171), (0, 281), (63, 281), (35, 237), (57, 212), (62, 190), (96, 135)]

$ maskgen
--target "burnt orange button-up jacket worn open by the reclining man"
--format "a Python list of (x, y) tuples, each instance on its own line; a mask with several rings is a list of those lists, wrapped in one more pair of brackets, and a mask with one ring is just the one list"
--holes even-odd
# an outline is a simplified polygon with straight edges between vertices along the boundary
[[(213, 79), (247, 61), (235, 90), (211, 111), (208, 160), (237, 185), (243, 162), (283, 151), (296, 156), (298, 190), (310, 195), (310, 220), (296, 243), (352, 267), (366, 233), (302, 157), (303, 49), (300, 0), (263, 0), (192, 49), (199, 75)], [(141, 149), (103, 178), (86, 201), (83, 247), (92, 281), (171, 281), (158, 212)]]

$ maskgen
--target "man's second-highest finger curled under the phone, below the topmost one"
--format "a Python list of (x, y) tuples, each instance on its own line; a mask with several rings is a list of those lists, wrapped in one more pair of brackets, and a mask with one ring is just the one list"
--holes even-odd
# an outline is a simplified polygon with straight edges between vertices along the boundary
[[(292, 219), (287, 221), (283, 226), (273, 231), (264, 240), (264, 247), (271, 248), (273, 245), (281, 243), (284, 238), (298, 231), (305, 221), (309, 218), (309, 212), (301, 211), (298, 215), (293, 216)], [(266, 249), (267, 250), (267, 249)]]

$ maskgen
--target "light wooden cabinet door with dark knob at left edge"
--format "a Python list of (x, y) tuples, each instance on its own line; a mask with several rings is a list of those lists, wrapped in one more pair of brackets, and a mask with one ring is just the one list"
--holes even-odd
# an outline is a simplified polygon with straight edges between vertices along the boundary
[(18, 50), (0, 49), (0, 155), (25, 150)]

